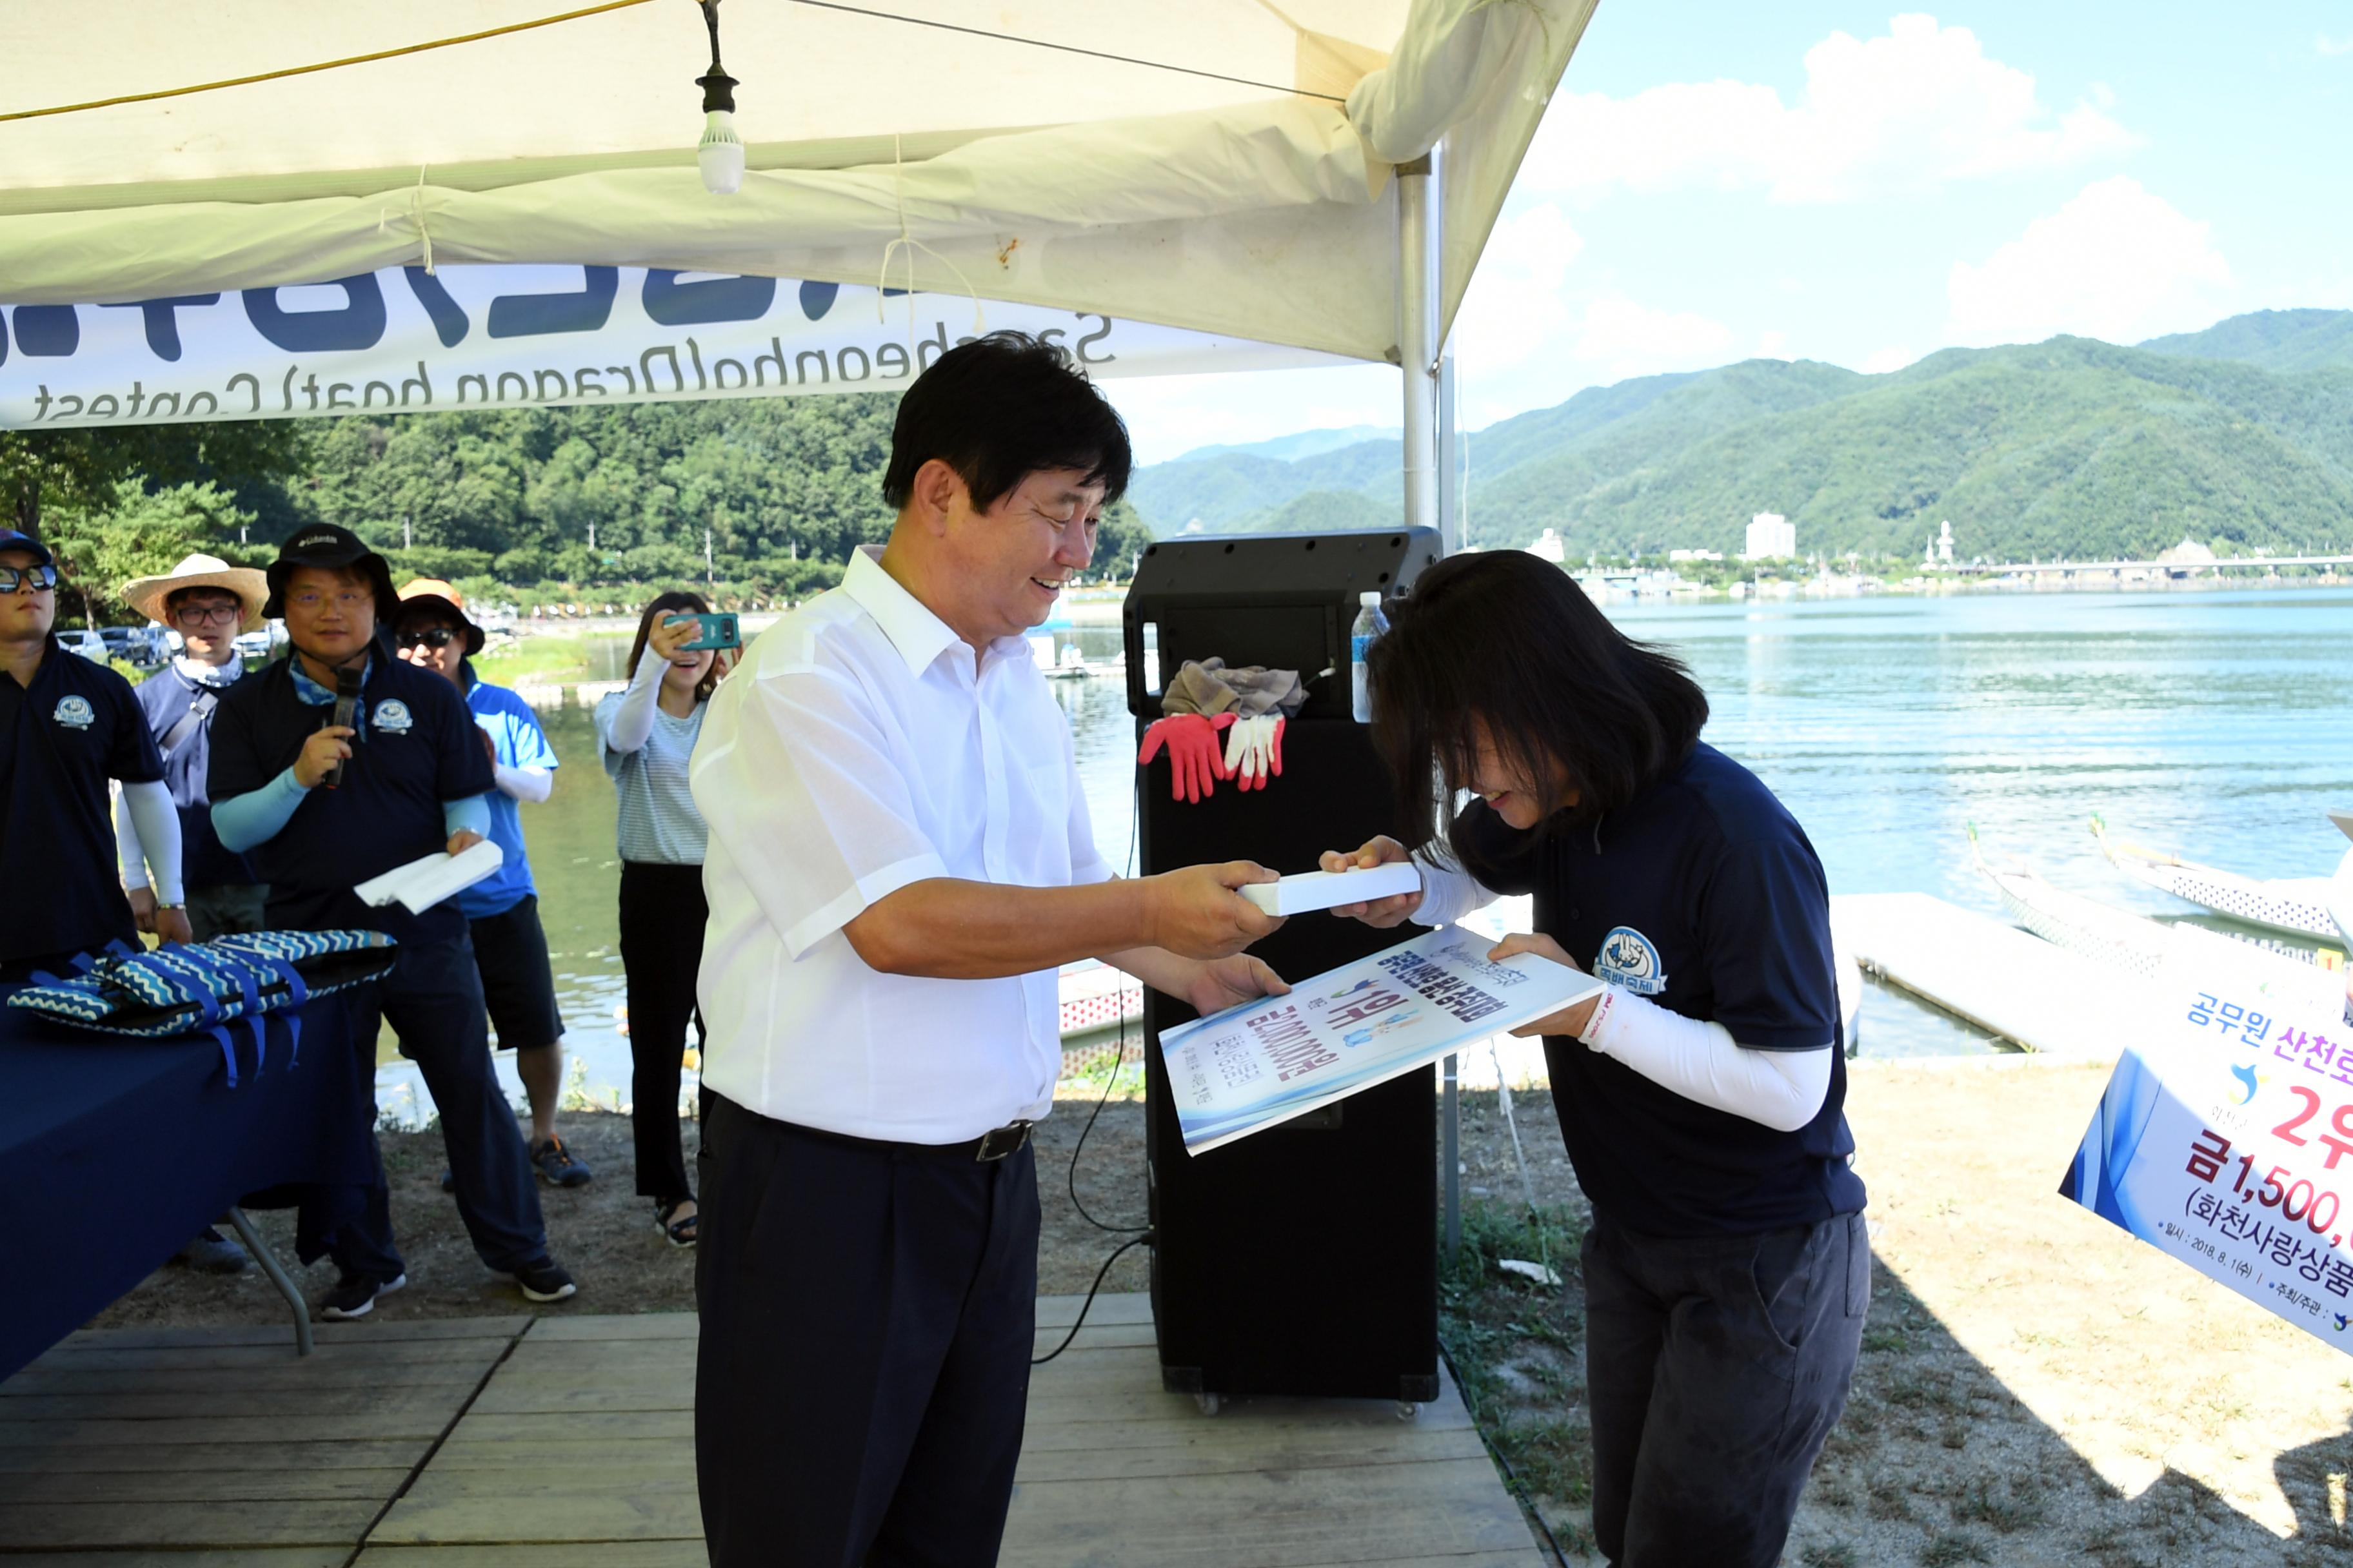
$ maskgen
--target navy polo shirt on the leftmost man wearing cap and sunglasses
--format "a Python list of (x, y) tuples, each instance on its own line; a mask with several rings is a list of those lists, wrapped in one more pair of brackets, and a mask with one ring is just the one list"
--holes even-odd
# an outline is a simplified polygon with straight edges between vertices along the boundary
[(31, 689), (0, 675), (0, 961), (139, 943), (115, 865), (106, 780), (155, 783), (162, 757), (132, 684), (49, 637)]

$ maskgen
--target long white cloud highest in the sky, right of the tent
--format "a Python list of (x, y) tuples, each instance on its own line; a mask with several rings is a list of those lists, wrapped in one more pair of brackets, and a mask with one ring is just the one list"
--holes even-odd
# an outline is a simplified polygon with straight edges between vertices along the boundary
[(2035, 78), (1986, 59), (1969, 28), (1897, 16), (1885, 38), (1831, 33), (1805, 54), (1805, 92), (1675, 82), (1631, 99), (1560, 94), (1522, 188), (1762, 188), (1781, 202), (1852, 202), (1946, 181), (2054, 169), (2139, 146), (2111, 94), (2052, 113)]

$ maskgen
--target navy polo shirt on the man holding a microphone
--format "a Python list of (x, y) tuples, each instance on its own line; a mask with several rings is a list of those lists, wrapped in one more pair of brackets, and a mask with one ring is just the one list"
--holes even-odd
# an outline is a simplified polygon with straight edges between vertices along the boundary
[[(304, 741), (334, 722), (332, 705), (294, 693), (294, 654), (221, 693), (212, 715), (209, 797), (249, 795), (294, 766)], [(445, 677), (376, 654), (360, 686), (360, 733), (344, 783), (301, 797), (294, 816), (247, 858), (271, 886), (273, 926), (384, 931), (400, 943), (447, 943), (466, 933), (456, 900), (424, 914), (372, 910), (351, 891), (395, 865), (449, 846), (442, 802), (496, 788), (489, 755)]]

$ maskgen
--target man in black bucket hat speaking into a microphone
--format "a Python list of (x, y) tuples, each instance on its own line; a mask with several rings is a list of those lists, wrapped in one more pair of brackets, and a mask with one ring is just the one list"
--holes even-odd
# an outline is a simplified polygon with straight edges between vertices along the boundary
[[(454, 903), (421, 914), (369, 907), (353, 884), (421, 856), (459, 853), (489, 830), (482, 802), (496, 780), (482, 738), (449, 682), (391, 658), (376, 628), (400, 609), (384, 557), (348, 529), (299, 529), (268, 567), (264, 614), (282, 614), (292, 654), (221, 698), (212, 733), (212, 823), (252, 853), (268, 882), (273, 926), (367, 929), (400, 943), (400, 959), (355, 1009), (355, 1048), (374, 1072), (376, 1016), (424, 1072), (440, 1112), (456, 1208), (482, 1262), (529, 1300), (574, 1293), (548, 1258), (539, 1187), (515, 1114), (489, 1067), (482, 978)], [(336, 722), (348, 715), (348, 722)], [(372, 1105), (362, 1107), (372, 1117)], [(365, 1213), (308, 1199), (306, 1248), (334, 1258), (329, 1319), (365, 1316), (407, 1284), (393, 1244), (381, 1166)], [(315, 1255), (315, 1251), (306, 1253)]]

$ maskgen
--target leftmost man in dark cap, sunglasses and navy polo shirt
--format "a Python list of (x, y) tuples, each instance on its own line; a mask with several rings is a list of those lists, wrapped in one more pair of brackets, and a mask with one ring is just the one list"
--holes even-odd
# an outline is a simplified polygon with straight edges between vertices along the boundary
[[(179, 813), (132, 684), (66, 654), (56, 632), (56, 557), (0, 529), (0, 799), (16, 898), (0, 898), (0, 983), (71, 966), (108, 943), (139, 945), (115, 879), (106, 780), (122, 783), (155, 875), (155, 933), (188, 940)], [(40, 889), (38, 896), (24, 889)]]

